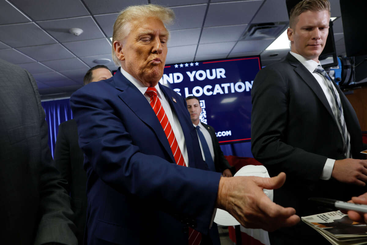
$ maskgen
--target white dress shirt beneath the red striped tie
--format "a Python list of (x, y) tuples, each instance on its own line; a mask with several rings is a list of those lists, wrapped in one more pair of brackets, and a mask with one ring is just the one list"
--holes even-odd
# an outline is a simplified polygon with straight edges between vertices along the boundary
[[(121, 70), (122, 75), (124, 75), (124, 77), (127, 80), (129, 80), (132, 84), (134, 84), (135, 87), (137, 87), (139, 89), (139, 91), (145, 96), (145, 98), (148, 100), (148, 102), (150, 102), (150, 96), (145, 94), (148, 87), (146, 87), (142, 82), (140, 82), (139, 80), (137, 80), (136, 78), (131, 76), (129, 73), (127, 73), (127, 71), (122, 69), (122, 67), (121, 67), (120, 70)], [(186, 166), (189, 166), (189, 157), (187, 155), (185, 137), (183, 136), (182, 127), (181, 127), (180, 122), (177, 118), (177, 115), (172, 113), (170, 104), (167, 101), (166, 96), (164, 96), (163, 92), (160, 90), (159, 84), (157, 84), (155, 86), (155, 88), (157, 90), (158, 98), (159, 98), (159, 100), (162, 104), (164, 112), (166, 112), (168, 121), (171, 124), (173, 133), (175, 134), (175, 137), (176, 137), (176, 140), (177, 140), (177, 143), (178, 143), (178, 147), (180, 148), (182, 156), (183, 156), (183, 160), (185, 160)]]

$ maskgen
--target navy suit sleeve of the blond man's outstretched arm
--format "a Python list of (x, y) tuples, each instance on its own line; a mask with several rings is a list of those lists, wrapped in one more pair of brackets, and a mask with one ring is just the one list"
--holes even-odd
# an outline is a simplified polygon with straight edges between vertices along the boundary
[[(98, 84), (88, 85), (72, 95), (70, 105), (78, 125), (80, 147), (93, 171), (119, 192), (145, 199), (171, 214), (195, 217), (197, 230), (206, 233), (220, 175), (143, 154), (132, 141), (135, 132), (128, 132), (124, 125), (134, 123), (133, 119), (125, 119), (123, 123), (123, 112), (116, 109), (115, 100), (120, 98), (102, 97), (88, 90)], [(153, 137), (144, 140), (160, 144)]]

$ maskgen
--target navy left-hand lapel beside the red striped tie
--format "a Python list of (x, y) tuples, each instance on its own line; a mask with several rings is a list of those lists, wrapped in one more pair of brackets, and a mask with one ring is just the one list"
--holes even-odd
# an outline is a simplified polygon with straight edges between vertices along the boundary
[(121, 93), (118, 95), (120, 99), (138, 116), (138, 118), (155, 132), (158, 140), (171, 157), (171, 162), (175, 162), (167, 136), (145, 96), (134, 86), (134, 84), (121, 74), (120, 68), (117, 69), (116, 74), (113, 76), (113, 80), (116, 89), (121, 90)]

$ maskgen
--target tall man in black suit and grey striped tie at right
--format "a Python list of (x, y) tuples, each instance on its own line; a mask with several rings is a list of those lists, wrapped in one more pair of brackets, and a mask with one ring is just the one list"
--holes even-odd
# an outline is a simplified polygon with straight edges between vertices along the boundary
[[(355, 111), (318, 60), (328, 35), (330, 3), (304, 0), (290, 13), (287, 57), (262, 69), (252, 89), (252, 154), (270, 176), (287, 174), (274, 202), (299, 216), (329, 210), (309, 197), (348, 201), (365, 192), (367, 161)], [(352, 159), (353, 158), (353, 159)], [(303, 222), (269, 233), (271, 244), (309, 244), (324, 238)]]

